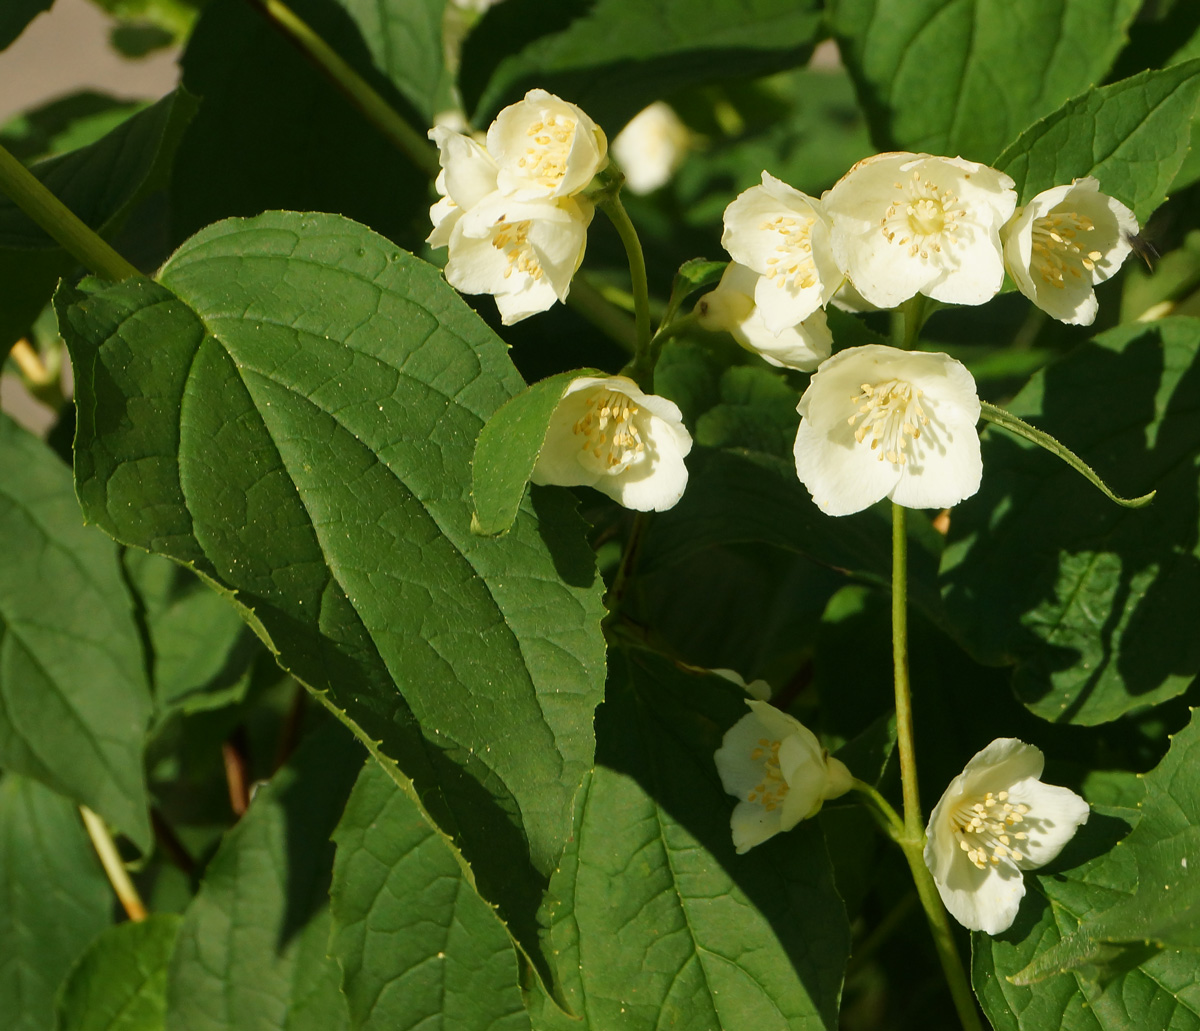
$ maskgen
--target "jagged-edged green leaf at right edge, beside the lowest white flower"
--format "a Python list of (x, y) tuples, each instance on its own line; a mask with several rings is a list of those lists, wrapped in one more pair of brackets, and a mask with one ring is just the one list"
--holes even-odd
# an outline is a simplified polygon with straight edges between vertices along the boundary
[(1096, 964), (1112, 945), (1200, 948), (1200, 719), (1171, 739), (1163, 761), (1145, 777), (1141, 820), (1121, 843), (1138, 867), (1128, 899), (1091, 915), (1074, 934), (1040, 953), (1016, 976), (1031, 984)]

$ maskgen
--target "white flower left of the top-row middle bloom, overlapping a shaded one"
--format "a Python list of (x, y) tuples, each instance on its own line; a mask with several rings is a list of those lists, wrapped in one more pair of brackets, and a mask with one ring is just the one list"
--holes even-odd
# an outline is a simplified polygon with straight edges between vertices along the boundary
[(799, 325), (841, 286), (821, 202), (769, 172), (725, 209), (721, 246), (762, 276), (754, 299), (772, 332)]

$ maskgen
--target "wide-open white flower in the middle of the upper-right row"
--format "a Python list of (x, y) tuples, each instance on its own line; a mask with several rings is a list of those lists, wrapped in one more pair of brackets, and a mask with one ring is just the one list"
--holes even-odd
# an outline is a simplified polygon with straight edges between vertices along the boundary
[(1016, 208), (1013, 180), (974, 161), (876, 154), (822, 198), (838, 266), (881, 308), (914, 294), (978, 305), (1004, 281), (1000, 227)]

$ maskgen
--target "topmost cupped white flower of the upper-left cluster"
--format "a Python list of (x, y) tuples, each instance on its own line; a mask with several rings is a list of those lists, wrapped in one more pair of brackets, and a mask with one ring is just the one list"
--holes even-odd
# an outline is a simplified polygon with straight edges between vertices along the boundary
[(545, 90), (529, 90), (487, 130), (499, 188), (511, 197), (571, 197), (608, 161), (604, 131), (580, 108)]

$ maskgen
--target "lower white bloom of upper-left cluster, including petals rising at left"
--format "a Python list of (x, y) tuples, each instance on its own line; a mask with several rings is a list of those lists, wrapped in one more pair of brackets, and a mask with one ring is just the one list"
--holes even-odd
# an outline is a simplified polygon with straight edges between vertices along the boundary
[(430, 131), (442, 158), (426, 242), (449, 247), (446, 282), (466, 294), (492, 294), (511, 325), (566, 299), (583, 262), (594, 208), (583, 197), (518, 200), (497, 188), (498, 168), (461, 133)]

